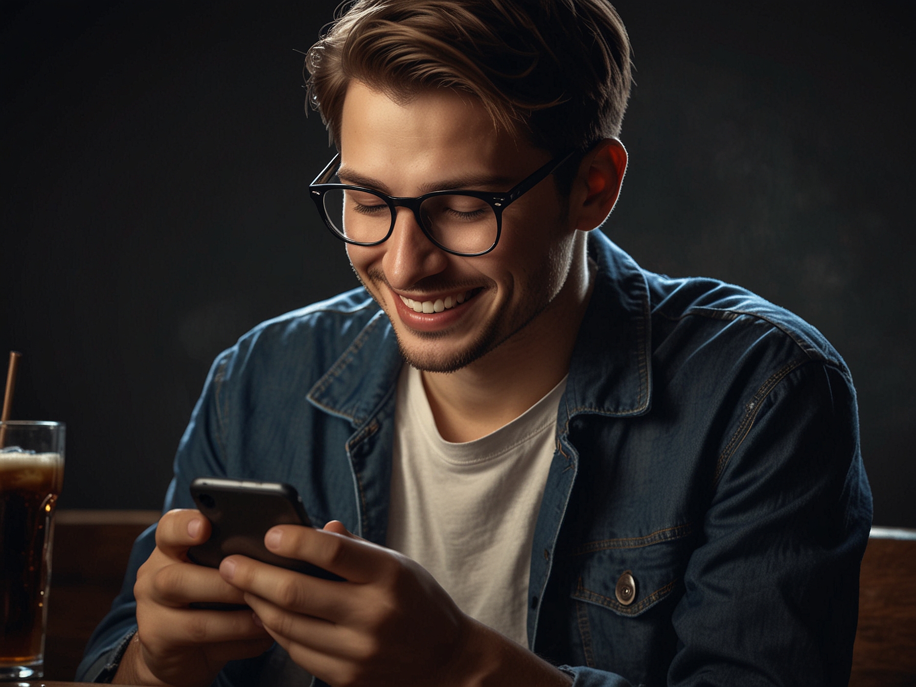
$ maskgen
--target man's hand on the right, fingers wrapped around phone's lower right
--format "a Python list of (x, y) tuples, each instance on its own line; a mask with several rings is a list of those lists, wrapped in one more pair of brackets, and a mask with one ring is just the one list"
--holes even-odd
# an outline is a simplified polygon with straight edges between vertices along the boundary
[(278, 526), (265, 544), (345, 579), (322, 580), (245, 556), (220, 566), (290, 658), (334, 687), (571, 683), (464, 615), (418, 563), (355, 537), (340, 522), (323, 530)]

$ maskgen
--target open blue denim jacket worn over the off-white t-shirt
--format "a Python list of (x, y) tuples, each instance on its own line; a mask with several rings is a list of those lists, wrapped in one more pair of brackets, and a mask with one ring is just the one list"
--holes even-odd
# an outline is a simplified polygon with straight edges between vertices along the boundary
[[(843, 359), (747, 290), (649, 273), (600, 232), (589, 255), (535, 526), (529, 648), (576, 687), (845, 684), (871, 494)], [(213, 364), (165, 508), (193, 507), (198, 476), (288, 482), (317, 524), (384, 544), (401, 365), (363, 289), (259, 325)], [(114, 675), (154, 528), (78, 679)], [(216, 683), (310, 679), (275, 645)]]

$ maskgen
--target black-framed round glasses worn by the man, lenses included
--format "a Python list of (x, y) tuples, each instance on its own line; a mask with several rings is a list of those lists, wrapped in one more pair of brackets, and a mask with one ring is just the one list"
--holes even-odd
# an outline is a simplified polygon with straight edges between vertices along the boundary
[(311, 200), (328, 229), (353, 245), (378, 245), (394, 231), (397, 208), (409, 208), (430, 241), (455, 256), (483, 256), (496, 248), (503, 211), (560, 168), (575, 149), (551, 159), (505, 193), (432, 191), (417, 198), (395, 198), (362, 186), (328, 183), (337, 173), (340, 153), (309, 184)]

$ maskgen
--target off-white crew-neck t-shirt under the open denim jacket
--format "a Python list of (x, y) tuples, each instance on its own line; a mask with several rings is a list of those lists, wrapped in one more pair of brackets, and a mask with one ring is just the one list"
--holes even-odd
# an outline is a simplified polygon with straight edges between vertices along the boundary
[(398, 379), (387, 546), (426, 568), (459, 608), (528, 646), (531, 542), (555, 448), (560, 384), (473, 442), (446, 442), (420, 371)]

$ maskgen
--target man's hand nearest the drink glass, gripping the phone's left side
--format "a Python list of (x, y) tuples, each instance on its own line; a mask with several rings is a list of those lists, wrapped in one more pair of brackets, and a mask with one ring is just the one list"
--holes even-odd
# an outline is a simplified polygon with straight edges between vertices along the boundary
[(159, 520), (156, 549), (136, 573), (139, 629), (114, 682), (209, 685), (228, 660), (258, 656), (273, 644), (249, 610), (189, 608), (245, 604), (218, 571), (188, 562), (188, 549), (209, 538), (210, 522), (197, 510), (170, 510)]

